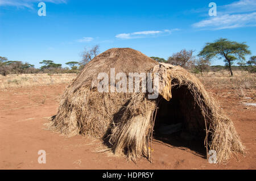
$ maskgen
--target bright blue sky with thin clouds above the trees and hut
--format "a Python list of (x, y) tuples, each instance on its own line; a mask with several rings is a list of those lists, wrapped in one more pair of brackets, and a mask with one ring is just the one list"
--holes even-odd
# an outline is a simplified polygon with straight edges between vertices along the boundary
[[(46, 16), (38, 15), (39, 2), (46, 3)], [(209, 16), (210, 2), (217, 16)], [(101, 52), (130, 47), (167, 59), (184, 48), (197, 54), (225, 37), (246, 42), (256, 55), (255, 32), (255, 0), (0, 0), (0, 56), (36, 68), (42, 60), (81, 61), (82, 50), (96, 44)]]

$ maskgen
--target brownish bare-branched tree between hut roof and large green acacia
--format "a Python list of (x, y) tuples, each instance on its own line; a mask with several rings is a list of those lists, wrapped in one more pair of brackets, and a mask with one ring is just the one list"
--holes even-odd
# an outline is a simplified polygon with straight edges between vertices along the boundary
[(180, 50), (180, 52), (172, 54), (167, 62), (172, 65), (179, 65), (183, 68), (190, 68), (193, 65), (193, 50)]

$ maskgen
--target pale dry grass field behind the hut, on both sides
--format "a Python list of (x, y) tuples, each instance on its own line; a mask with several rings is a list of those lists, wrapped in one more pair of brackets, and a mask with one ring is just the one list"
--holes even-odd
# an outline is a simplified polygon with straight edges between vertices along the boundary
[[(195, 74), (206, 87), (216, 89), (243, 90), (256, 88), (256, 74), (247, 71), (234, 71), (234, 77), (230, 77), (228, 71), (219, 71)], [(11, 87), (28, 87), (39, 85), (53, 85), (57, 83), (69, 83), (76, 78), (77, 74), (11, 74), (6, 77), (0, 75), (0, 89)]]

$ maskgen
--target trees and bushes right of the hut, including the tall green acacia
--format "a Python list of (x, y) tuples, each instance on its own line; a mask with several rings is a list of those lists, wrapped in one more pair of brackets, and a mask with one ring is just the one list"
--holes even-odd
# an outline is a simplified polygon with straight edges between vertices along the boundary
[[(158, 62), (166, 62), (172, 65), (179, 65), (192, 73), (203, 73), (207, 71), (228, 70), (233, 76), (233, 70), (256, 72), (256, 56), (251, 56), (246, 61), (245, 56), (250, 55), (249, 46), (245, 43), (237, 43), (228, 39), (220, 38), (213, 43), (206, 43), (199, 54), (194, 55), (195, 50), (180, 50), (168, 57), (168, 60), (160, 57), (151, 57)], [(225, 62), (225, 66), (210, 65), (214, 58)], [(234, 65), (237, 63), (237, 65)]]

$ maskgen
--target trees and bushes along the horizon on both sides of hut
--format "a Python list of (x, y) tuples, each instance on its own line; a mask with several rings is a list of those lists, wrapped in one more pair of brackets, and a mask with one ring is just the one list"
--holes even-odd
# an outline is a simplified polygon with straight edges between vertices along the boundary
[[(90, 49), (84, 49), (81, 52), (81, 61), (67, 61), (65, 67), (57, 64), (53, 60), (42, 60), (40, 68), (22, 61), (10, 61), (7, 57), (0, 56), (0, 74), (65, 74), (80, 73), (85, 64), (91, 61), (100, 53), (100, 46), (95, 45)], [(151, 57), (158, 62), (166, 62), (172, 65), (179, 65), (192, 73), (204, 75), (209, 71), (228, 70), (229, 75), (233, 76), (233, 71), (247, 71), (248, 73), (256, 72), (256, 56), (251, 56), (246, 60), (245, 56), (251, 54), (249, 46), (246, 43), (237, 43), (228, 39), (220, 38), (213, 43), (206, 43), (199, 54), (195, 55), (195, 50), (182, 49), (173, 53), (167, 60), (161, 57)], [(211, 65), (214, 58), (221, 59), (225, 66)], [(234, 65), (237, 63), (237, 65)]]

